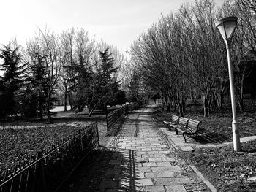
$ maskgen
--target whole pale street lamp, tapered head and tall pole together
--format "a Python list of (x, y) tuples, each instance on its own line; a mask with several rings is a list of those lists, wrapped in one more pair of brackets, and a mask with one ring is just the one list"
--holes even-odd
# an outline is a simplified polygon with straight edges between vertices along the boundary
[(233, 70), (231, 66), (231, 58), (230, 58), (230, 43), (233, 37), (233, 33), (235, 31), (237, 24), (236, 17), (227, 17), (222, 18), (216, 21), (215, 26), (219, 29), (220, 34), (222, 34), (222, 38), (224, 39), (226, 49), (227, 49), (227, 64), (228, 64), (228, 74), (230, 77), (230, 97), (231, 97), (231, 105), (232, 105), (232, 132), (233, 132), (233, 146), (235, 151), (240, 151), (240, 138), (239, 138), (239, 129), (238, 122), (236, 120), (236, 100), (234, 93), (234, 84), (233, 84)]

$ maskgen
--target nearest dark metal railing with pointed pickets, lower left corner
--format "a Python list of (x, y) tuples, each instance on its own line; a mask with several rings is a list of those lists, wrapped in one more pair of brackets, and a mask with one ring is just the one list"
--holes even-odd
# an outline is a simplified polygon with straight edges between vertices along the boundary
[(0, 175), (1, 192), (58, 191), (59, 186), (94, 148), (99, 146), (97, 123), (79, 130), (30, 156), (28, 161)]

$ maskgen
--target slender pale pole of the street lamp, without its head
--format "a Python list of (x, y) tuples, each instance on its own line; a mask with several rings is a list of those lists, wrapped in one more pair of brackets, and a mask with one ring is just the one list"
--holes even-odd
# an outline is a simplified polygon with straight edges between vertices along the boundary
[(239, 128), (238, 122), (236, 120), (236, 100), (235, 100), (235, 92), (234, 92), (234, 83), (233, 83), (233, 69), (231, 66), (231, 58), (230, 58), (230, 42), (228, 41), (226, 44), (227, 48), (227, 64), (228, 64), (228, 74), (230, 77), (230, 97), (231, 97), (231, 106), (232, 106), (232, 133), (233, 133), (233, 147), (235, 151), (240, 151), (240, 137), (239, 137)]

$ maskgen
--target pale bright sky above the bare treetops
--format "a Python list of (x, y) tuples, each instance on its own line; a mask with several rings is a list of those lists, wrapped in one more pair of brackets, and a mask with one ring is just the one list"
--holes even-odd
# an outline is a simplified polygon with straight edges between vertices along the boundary
[(16, 37), (25, 45), (45, 26), (56, 34), (83, 27), (91, 37), (125, 51), (161, 14), (177, 12), (185, 2), (192, 0), (2, 0), (0, 44)]

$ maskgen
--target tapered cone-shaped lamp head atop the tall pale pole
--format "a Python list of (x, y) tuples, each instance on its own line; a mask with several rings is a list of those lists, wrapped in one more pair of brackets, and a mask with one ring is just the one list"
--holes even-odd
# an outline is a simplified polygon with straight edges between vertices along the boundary
[(237, 17), (221, 18), (215, 22), (215, 26), (219, 29), (225, 44), (229, 44), (237, 24)]

